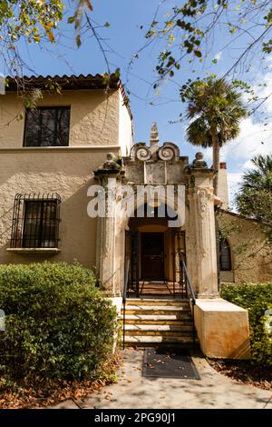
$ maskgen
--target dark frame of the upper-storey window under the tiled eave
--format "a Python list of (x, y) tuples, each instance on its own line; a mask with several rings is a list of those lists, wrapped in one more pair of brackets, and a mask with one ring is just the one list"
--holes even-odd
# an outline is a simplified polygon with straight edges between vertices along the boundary
[[(42, 110), (68, 110), (69, 111), (69, 125), (68, 125), (68, 141), (66, 145), (26, 145), (26, 133), (27, 133), (27, 114), (31, 111), (42, 111)], [(68, 147), (70, 143), (70, 124), (71, 124), (71, 105), (37, 105), (35, 109), (27, 108), (24, 114), (24, 148), (47, 148), (47, 147)], [(57, 120), (54, 123), (54, 141), (57, 139)], [(42, 114), (39, 116), (39, 131), (38, 131), (38, 142), (42, 141)]]

